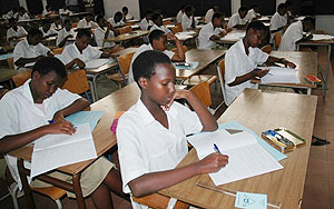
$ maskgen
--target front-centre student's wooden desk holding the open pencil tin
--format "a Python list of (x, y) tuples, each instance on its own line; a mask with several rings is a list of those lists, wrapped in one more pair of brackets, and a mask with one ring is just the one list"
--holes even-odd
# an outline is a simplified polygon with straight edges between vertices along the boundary
[[(315, 96), (245, 89), (218, 119), (218, 123), (237, 120), (258, 136), (267, 129), (286, 127), (307, 142), (287, 153), (288, 158), (281, 161), (284, 169), (226, 183), (219, 188), (267, 193), (268, 202), (281, 203), (282, 209), (298, 208), (302, 205), (316, 101)], [(197, 160), (196, 151), (193, 149), (178, 167)], [(198, 181), (214, 186), (208, 175), (202, 175), (164, 189), (159, 193), (203, 208), (234, 208), (235, 197), (200, 188), (196, 186)]]

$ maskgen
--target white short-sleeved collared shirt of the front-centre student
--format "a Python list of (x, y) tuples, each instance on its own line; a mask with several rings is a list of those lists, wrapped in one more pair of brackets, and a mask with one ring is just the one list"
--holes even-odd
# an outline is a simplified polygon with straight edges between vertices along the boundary
[[(188, 153), (186, 135), (203, 129), (197, 113), (178, 102), (166, 115), (168, 129), (139, 99), (119, 118), (116, 136), (124, 192), (130, 193), (129, 181), (145, 173), (174, 169)], [(148, 208), (131, 203), (134, 209)]]

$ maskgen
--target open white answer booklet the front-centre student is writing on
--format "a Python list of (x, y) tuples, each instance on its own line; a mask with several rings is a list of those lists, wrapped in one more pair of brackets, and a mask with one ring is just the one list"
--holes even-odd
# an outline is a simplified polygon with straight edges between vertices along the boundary
[(194, 135), (188, 141), (195, 147), (199, 159), (215, 152), (214, 143), (223, 155), (228, 156), (226, 167), (209, 173), (216, 186), (283, 168), (247, 131), (229, 135), (226, 130), (218, 129), (214, 132)]

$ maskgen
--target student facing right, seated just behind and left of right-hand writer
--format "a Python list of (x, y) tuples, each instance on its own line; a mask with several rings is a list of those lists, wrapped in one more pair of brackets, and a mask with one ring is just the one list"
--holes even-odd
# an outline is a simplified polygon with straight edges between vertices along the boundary
[(205, 24), (198, 34), (198, 49), (213, 49), (216, 47), (215, 40), (219, 40), (226, 36), (226, 31), (222, 28), (224, 24), (224, 16), (220, 12), (214, 13), (212, 21)]

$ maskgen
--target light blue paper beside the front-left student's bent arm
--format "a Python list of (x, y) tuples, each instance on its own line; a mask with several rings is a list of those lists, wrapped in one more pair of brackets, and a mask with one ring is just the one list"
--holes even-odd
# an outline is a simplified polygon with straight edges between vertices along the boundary
[(104, 111), (79, 111), (66, 117), (66, 120), (71, 122), (73, 126), (89, 122), (89, 127), (92, 132), (104, 113)]

